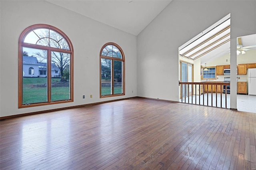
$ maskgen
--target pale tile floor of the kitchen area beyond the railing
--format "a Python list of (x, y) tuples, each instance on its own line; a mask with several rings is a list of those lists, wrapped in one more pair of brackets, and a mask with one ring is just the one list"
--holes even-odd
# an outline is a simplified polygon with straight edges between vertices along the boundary
[[(222, 105), (220, 104), (220, 97), (222, 98)], [(200, 105), (209, 105), (216, 107), (216, 93), (209, 93), (208, 94), (208, 104), (207, 104), (207, 94), (200, 95), (200, 96), (190, 96), (189, 98), (186, 97), (185, 99), (180, 102), (183, 103), (193, 103), (199, 105), (199, 98), (200, 98)], [(230, 108), (230, 94), (227, 94), (227, 103), (225, 100), (225, 94), (220, 95), (217, 93), (217, 107), (222, 108)], [(189, 100), (189, 101), (188, 101)], [(252, 95), (237, 95), (237, 110), (244, 111), (244, 112), (251, 112), (256, 113), (256, 96)]]

